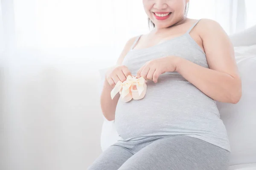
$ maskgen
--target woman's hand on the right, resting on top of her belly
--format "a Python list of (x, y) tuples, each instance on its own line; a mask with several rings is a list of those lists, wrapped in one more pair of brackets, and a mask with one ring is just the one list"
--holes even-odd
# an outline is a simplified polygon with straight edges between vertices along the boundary
[(153, 80), (157, 82), (158, 77), (165, 72), (176, 71), (180, 57), (169, 56), (152, 59), (146, 62), (137, 72), (137, 78), (144, 77), (144, 79)]

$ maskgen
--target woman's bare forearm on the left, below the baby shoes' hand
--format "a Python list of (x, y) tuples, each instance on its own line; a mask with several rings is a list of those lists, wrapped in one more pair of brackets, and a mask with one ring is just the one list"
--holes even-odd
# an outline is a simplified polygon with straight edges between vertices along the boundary
[(108, 81), (105, 79), (103, 90), (100, 96), (100, 105), (102, 113), (108, 121), (115, 119), (116, 105), (120, 94), (117, 94), (113, 100), (111, 99), (112, 87), (108, 84)]

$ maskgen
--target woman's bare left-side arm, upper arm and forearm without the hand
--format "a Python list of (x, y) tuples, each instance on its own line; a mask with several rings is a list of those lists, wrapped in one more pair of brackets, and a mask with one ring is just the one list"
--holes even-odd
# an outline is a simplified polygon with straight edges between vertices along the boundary
[[(122, 65), (123, 59), (125, 58), (126, 54), (130, 50), (130, 48), (133, 45), (135, 40), (136, 40), (136, 37), (131, 38), (126, 43), (122, 53), (120, 54), (120, 57), (118, 58), (118, 60), (116, 62), (116, 66)], [(117, 105), (117, 102), (120, 97), (120, 94), (118, 93), (112, 100), (111, 95), (110, 95), (112, 89), (113, 88), (108, 83), (107, 79), (105, 78), (103, 90), (102, 90), (102, 93), (100, 96), (100, 104), (101, 104), (102, 113), (108, 121), (112, 121), (115, 119), (116, 105)]]

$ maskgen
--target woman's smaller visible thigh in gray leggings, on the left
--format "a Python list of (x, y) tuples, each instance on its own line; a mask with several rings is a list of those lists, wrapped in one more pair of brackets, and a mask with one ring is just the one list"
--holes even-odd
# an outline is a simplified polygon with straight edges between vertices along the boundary
[(87, 170), (118, 170), (133, 154), (121, 146), (108, 147)]

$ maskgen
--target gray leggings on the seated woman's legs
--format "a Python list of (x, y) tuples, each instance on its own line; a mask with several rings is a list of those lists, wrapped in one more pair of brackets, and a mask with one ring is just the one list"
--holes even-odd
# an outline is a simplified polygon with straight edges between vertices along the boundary
[(88, 170), (227, 170), (230, 152), (189, 136), (117, 142)]

